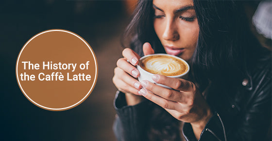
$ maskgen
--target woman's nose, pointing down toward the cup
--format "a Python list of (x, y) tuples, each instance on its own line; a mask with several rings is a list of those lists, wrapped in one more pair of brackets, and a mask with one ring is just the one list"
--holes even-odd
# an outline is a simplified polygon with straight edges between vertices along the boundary
[(167, 20), (162, 37), (164, 40), (168, 41), (176, 41), (179, 39), (179, 33), (175, 21), (172, 19)]

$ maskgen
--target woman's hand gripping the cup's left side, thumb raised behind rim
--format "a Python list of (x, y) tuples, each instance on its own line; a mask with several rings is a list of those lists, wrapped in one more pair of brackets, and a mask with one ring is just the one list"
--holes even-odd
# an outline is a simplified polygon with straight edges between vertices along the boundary
[[(150, 43), (143, 44), (144, 55), (154, 54)], [(117, 67), (114, 69), (113, 83), (117, 89), (125, 93), (128, 105), (139, 103), (142, 97), (138, 94), (141, 89), (141, 84), (136, 79), (139, 76), (139, 71), (136, 65), (139, 62), (140, 56), (130, 48), (125, 48), (122, 51), (123, 58), (117, 61)]]

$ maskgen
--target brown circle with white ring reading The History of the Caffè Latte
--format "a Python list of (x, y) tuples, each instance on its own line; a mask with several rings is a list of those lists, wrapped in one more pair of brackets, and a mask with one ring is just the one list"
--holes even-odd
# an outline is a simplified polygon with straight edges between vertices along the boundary
[(97, 81), (90, 45), (63, 29), (40, 32), (25, 43), (16, 63), (17, 83), (34, 105), (64, 111), (82, 103)]

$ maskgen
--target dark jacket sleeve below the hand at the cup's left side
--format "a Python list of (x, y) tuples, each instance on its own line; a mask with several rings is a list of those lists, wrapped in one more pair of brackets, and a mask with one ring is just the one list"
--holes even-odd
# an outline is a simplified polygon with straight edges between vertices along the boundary
[(128, 106), (124, 93), (117, 92), (114, 100), (114, 108), (117, 112), (113, 130), (118, 141), (147, 141), (146, 119), (150, 106), (148, 100)]

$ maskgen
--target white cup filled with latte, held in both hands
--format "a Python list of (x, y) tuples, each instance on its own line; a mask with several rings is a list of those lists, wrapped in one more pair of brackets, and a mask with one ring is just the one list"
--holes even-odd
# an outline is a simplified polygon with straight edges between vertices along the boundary
[[(140, 72), (138, 77), (139, 82), (148, 80), (155, 83), (152, 80), (152, 76), (154, 74), (186, 79), (189, 72), (189, 65), (185, 60), (177, 56), (168, 54), (153, 54), (141, 57), (139, 64), (137, 65), (137, 69)], [(170, 88), (166, 85), (157, 85)]]

